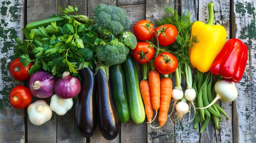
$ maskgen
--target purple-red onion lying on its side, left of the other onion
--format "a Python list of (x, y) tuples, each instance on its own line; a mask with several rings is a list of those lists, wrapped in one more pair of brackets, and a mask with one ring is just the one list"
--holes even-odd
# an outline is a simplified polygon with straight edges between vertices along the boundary
[(54, 94), (56, 79), (46, 71), (38, 71), (29, 79), (29, 90), (35, 97), (47, 98)]

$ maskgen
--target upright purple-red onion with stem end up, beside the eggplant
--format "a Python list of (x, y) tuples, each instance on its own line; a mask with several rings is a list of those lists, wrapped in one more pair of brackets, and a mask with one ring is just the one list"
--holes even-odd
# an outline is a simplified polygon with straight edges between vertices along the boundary
[(64, 72), (62, 77), (56, 81), (55, 93), (61, 98), (73, 98), (79, 94), (81, 90), (80, 81), (76, 77), (72, 77), (70, 72)]

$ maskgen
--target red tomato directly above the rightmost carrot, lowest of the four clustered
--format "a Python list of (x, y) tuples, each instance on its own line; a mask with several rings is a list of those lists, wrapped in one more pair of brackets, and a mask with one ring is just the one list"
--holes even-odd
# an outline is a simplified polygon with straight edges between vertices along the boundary
[(173, 54), (163, 52), (155, 58), (154, 65), (159, 73), (168, 75), (176, 70), (178, 60)]

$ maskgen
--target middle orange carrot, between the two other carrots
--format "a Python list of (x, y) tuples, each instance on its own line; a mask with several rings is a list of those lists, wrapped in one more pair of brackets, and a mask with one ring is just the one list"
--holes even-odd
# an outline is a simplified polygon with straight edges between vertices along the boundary
[(151, 93), (153, 109), (157, 112), (160, 106), (160, 77), (157, 70), (150, 70), (148, 73), (148, 82)]

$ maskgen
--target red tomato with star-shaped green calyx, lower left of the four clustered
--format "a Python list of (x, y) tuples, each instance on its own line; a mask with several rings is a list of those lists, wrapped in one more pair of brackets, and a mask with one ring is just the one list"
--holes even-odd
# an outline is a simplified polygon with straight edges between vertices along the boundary
[(138, 42), (136, 48), (132, 50), (133, 58), (141, 64), (149, 62), (154, 53), (155, 49), (148, 42)]

